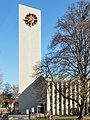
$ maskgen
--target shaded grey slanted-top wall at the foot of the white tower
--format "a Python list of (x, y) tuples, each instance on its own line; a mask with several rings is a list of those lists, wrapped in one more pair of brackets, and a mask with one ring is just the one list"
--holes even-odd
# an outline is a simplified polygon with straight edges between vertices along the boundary
[(26, 88), (19, 96), (19, 110), (25, 113), (26, 109), (35, 108), (37, 105), (46, 103), (46, 81), (41, 77), (35, 80), (28, 88)]

